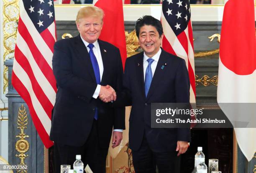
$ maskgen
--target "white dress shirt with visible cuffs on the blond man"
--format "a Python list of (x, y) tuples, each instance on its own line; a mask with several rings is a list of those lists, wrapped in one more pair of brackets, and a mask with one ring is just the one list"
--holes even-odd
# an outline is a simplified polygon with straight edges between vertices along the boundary
[[(84, 45), (86, 46), (87, 48), (87, 52), (89, 53), (90, 51), (90, 48), (87, 47), (89, 45), (89, 43), (87, 41), (85, 41), (82, 36), (80, 35), (82, 41), (84, 42)], [(103, 67), (103, 62), (102, 62), (102, 57), (101, 57), (101, 53), (100, 53), (100, 45), (98, 43), (98, 41), (96, 40), (94, 43), (92, 43), (94, 45), (94, 47), (92, 48), (92, 51), (97, 59), (97, 62), (98, 62), (98, 65), (99, 65), (99, 69), (100, 69), (100, 81), (102, 79), (102, 74), (103, 74), (103, 71), (104, 71), (104, 67)], [(94, 94), (92, 95), (93, 98), (97, 99), (97, 97), (99, 96), (100, 94), (100, 84), (97, 84), (97, 87), (95, 89), (95, 92)], [(114, 131), (118, 131), (118, 132), (123, 132), (122, 129), (114, 129)]]

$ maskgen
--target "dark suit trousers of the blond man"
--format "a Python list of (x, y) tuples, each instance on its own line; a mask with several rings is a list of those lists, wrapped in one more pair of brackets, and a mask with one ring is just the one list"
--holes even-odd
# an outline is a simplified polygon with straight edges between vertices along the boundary
[(74, 147), (54, 142), (55, 173), (60, 173), (60, 165), (71, 165), (73, 168), (76, 155), (81, 155), (84, 167), (88, 164), (93, 173), (105, 173), (108, 148), (99, 146), (97, 120), (94, 120), (92, 130), (84, 145)]

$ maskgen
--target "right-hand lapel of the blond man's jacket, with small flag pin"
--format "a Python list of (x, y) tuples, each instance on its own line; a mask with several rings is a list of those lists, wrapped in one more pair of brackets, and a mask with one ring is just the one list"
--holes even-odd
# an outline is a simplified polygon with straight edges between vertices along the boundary
[(107, 49), (105, 48), (104, 43), (98, 39), (98, 43), (100, 46), (100, 54), (102, 58), (102, 63), (103, 63), (103, 74), (102, 74), (102, 79), (101, 79), (101, 84), (105, 85), (105, 80), (107, 78), (108, 70), (109, 70), (109, 64), (108, 64), (108, 56), (107, 56)]

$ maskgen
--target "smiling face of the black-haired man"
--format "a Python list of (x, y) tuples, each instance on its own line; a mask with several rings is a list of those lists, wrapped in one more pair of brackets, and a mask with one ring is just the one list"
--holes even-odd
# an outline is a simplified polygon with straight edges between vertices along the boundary
[(139, 33), (141, 48), (149, 58), (153, 57), (160, 49), (164, 35), (159, 36), (156, 28), (152, 25), (143, 25)]

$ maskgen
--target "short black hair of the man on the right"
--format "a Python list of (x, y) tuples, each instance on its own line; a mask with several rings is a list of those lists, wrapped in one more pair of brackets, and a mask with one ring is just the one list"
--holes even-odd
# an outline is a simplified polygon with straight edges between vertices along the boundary
[(144, 15), (142, 18), (139, 18), (135, 24), (136, 35), (138, 38), (139, 38), (141, 27), (144, 25), (154, 26), (157, 32), (159, 33), (159, 37), (161, 37), (161, 35), (164, 33), (162, 24), (159, 20), (152, 17), (151, 15)]

